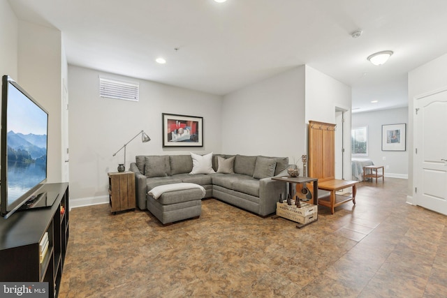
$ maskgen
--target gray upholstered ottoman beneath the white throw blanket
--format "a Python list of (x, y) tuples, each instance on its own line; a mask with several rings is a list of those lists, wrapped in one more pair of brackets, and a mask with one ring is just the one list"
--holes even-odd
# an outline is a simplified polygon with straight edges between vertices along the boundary
[[(186, 184), (185, 184), (186, 185)], [(177, 186), (177, 188), (181, 188)], [(185, 188), (163, 192), (156, 198), (151, 191), (146, 195), (147, 209), (161, 221), (163, 225), (198, 218), (202, 212), (202, 198), (205, 189)]]

